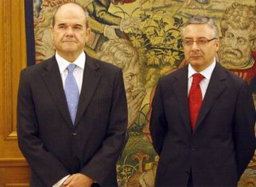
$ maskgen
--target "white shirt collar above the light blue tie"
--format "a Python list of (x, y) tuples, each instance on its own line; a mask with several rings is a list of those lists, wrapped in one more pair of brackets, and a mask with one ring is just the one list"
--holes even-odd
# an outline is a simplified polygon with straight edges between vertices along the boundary
[[(55, 57), (59, 66), (59, 72), (63, 73), (67, 69), (67, 66), (70, 65), (70, 62), (59, 56), (57, 51)], [(85, 58), (85, 52), (82, 52), (73, 63), (83, 70), (85, 68)]]

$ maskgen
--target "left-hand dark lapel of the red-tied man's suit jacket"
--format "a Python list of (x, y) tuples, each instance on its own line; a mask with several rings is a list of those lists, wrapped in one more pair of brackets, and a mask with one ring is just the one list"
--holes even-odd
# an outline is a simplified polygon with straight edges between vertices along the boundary
[(190, 127), (190, 117), (189, 117), (189, 103), (187, 99), (187, 68), (186, 65), (182, 68), (179, 74), (174, 74), (174, 77), (177, 79), (176, 82), (173, 84), (173, 90), (177, 98), (179, 110), (181, 112), (182, 119), (184, 124), (186, 125), (186, 129), (191, 134), (191, 127)]

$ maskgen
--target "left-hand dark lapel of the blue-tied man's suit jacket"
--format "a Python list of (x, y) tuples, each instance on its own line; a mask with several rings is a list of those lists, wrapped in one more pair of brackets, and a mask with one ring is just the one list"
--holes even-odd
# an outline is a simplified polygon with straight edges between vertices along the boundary
[(67, 108), (66, 96), (64, 93), (61, 74), (59, 73), (59, 66), (55, 56), (49, 59), (49, 63), (45, 66), (45, 73), (42, 74), (43, 80), (53, 97), (53, 101), (56, 103), (62, 117), (65, 119), (67, 124), (72, 127), (72, 121)]

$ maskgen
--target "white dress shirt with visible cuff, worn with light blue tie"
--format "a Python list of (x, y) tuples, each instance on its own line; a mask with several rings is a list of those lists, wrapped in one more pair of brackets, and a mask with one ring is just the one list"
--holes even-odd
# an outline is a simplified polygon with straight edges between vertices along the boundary
[[(55, 54), (55, 57), (59, 66), (59, 72), (61, 73), (61, 80), (64, 88), (67, 75), (69, 74), (69, 71), (67, 70), (67, 66), (70, 65), (70, 62), (68, 62), (61, 56), (59, 56), (57, 52)], [(75, 81), (77, 81), (77, 86), (79, 87), (79, 94), (80, 94), (82, 89), (82, 83), (83, 83), (83, 69), (85, 68), (85, 52), (82, 52), (73, 63), (77, 65), (73, 71), (73, 74), (75, 77)], [(63, 177), (61, 180), (55, 183), (53, 187), (61, 186), (64, 183), (64, 181), (67, 180), (67, 178), (69, 178), (69, 176), (70, 175)]]

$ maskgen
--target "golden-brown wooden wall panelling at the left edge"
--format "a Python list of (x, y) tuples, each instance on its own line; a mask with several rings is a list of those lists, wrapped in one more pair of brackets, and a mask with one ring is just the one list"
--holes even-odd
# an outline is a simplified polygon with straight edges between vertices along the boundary
[(0, 1), (0, 186), (28, 186), (29, 168), (17, 145), (19, 73), (27, 66), (24, 5)]

